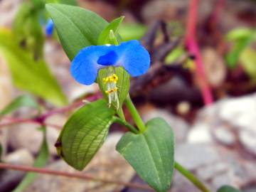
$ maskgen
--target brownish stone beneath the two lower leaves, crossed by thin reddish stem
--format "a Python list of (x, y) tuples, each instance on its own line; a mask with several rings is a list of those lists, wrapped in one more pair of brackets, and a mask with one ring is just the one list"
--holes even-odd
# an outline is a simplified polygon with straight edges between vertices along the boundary
[[(129, 164), (115, 151), (115, 146), (122, 134), (110, 134), (100, 151), (97, 152), (90, 164), (87, 165), (82, 173), (90, 174), (98, 178), (113, 179), (119, 181), (129, 182), (134, 176), (135, 172)], [(47, 169), (58, 171), (66, 171), (75, 173), (71, 166), (63, 160), (58, 160), (49, 164)], [(80, 173), (80, 172), (79, 172)], [(112, 192), (121, 191), (123, 186), (115, 184), (100, 183), (97, 181), (81, 180), (77, 178), (65, 178), (61, 176), (38, 175), (36, 181), (26, 189), (26, 192)]]

